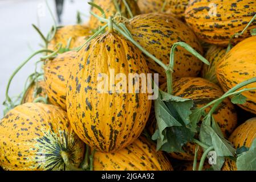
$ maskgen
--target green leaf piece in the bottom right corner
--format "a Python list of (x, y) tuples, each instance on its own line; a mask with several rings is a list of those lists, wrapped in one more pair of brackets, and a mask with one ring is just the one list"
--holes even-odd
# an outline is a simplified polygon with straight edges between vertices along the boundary
[(256, 171), (256, 139), (254, 139), (248, 151), (238, 155), (237, 170)]

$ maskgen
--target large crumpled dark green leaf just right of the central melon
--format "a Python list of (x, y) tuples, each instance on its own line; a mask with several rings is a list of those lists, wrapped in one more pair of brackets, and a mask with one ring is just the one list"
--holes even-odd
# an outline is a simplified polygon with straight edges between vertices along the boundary
[(182, 152), (182, 146), (191, 141), (194, 132), (190, 130), (189, 115), (193, 101), (159, 92), (155, 100), (157, 131), (152, 139), (157, 140), (157, 150)]

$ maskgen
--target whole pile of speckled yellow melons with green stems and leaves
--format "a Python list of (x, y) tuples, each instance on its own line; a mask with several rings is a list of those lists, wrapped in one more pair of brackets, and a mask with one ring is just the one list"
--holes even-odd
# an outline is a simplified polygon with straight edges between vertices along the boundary
[[(256, 2), (90, 6), (88, 22), (47, 36), (34, 26), (43, 47), (6, 87), (2, 169), (256, 170)], [(25, 90), (9, 96), (38, 54)], [(144, 90), (142, 77), (124, 82), (131, 74), (153, 81)]]

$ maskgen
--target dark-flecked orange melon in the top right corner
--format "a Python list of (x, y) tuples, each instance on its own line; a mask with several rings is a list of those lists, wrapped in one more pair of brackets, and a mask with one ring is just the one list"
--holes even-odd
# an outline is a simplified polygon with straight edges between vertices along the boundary
[[(241, 32), (255, 13), (256, 1), (190, 0), (185, 11), (185, 20), (198, 38), (225, 47), (231, 36)], [(256, 20), (242, 36), (233, 39), (234, 43), (249, 37), (253, 28), (256, 28)]]

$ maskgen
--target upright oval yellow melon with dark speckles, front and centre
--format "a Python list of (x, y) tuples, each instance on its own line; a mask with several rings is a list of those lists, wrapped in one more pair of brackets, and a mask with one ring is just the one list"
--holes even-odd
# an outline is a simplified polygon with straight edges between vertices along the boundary
[[(148, 93), (141, 92), (141, 87), (139, 93), (104, 92), (98, 86), (103, 73), (111, 77), (111, 69), (127, 78), (129, 73), (149, 73), (143, 54), (123, 36), (106, 32), (88, 42), (75, 59), (68, 78), (66, 104), (76, 134), (101, 152), (127, 147), (147, 123), (151, 109)], [(119, 80), (115, 85), (120, 85)]]

